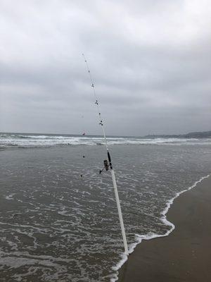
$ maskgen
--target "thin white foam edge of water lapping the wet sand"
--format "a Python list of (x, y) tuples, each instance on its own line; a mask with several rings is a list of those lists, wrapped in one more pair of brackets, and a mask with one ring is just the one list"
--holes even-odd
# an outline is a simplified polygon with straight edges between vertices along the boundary
[[(166, 237), (166, 236), (170, 235), (170, 233), (172, 233), (172, 231), (175, 229), (175, 226), (172, 222), (167, 220), (167, 212), (169, 211), (170, 207), (172, 206), (174, 200), (177, 199), (177, 197), (179, 197), (179, 195), (183, 194), (184, 192), (187, 192), (187, 191), (195, 188), (198, 183), (200, 183), (201, 181), (203, 181), (205, 178), (208, 178), (208, 177), (210, 177), (210, 174), (208, 174), (207, 176), (201, 177), (200, 180), (196, 181), (191, 187), (189, 187), (185, 190), (182, 190), (181, 192), (178, 192), (171, 200), (167, 201), (165, 209), (160, 214), (161, 215), (160, 220), (162, 221), (162, 223), (165, 223), (166, 226), (170, 226), (170, 230), (168, 230), (165, 234), (162, 234), (162, 235), (157, 234), (157, 233), (148, 233), (146, 235), (135, 234), (136, 242), (129, 245), (129, 254), (134, 252), (136, 245), (139, 245), (142, 242), (142, 240), (151, 240), (151, 239), (154, 239), (154, 238)], [(116, 271), (116, 273), (113, 274), (113, 277), (110, 278), (110, 282), (115, 282), (115, 281), (118, 280), (118, 272), (117, 271), (122, 267), (124, 262), (127, 262), (128, 256), (125, 253), (122, 253), (120, 255), (120, 257), (122, 257), (122, 259), (120, 259), (120, 262), (118, 262), (112, 268), (113, 271)]]

